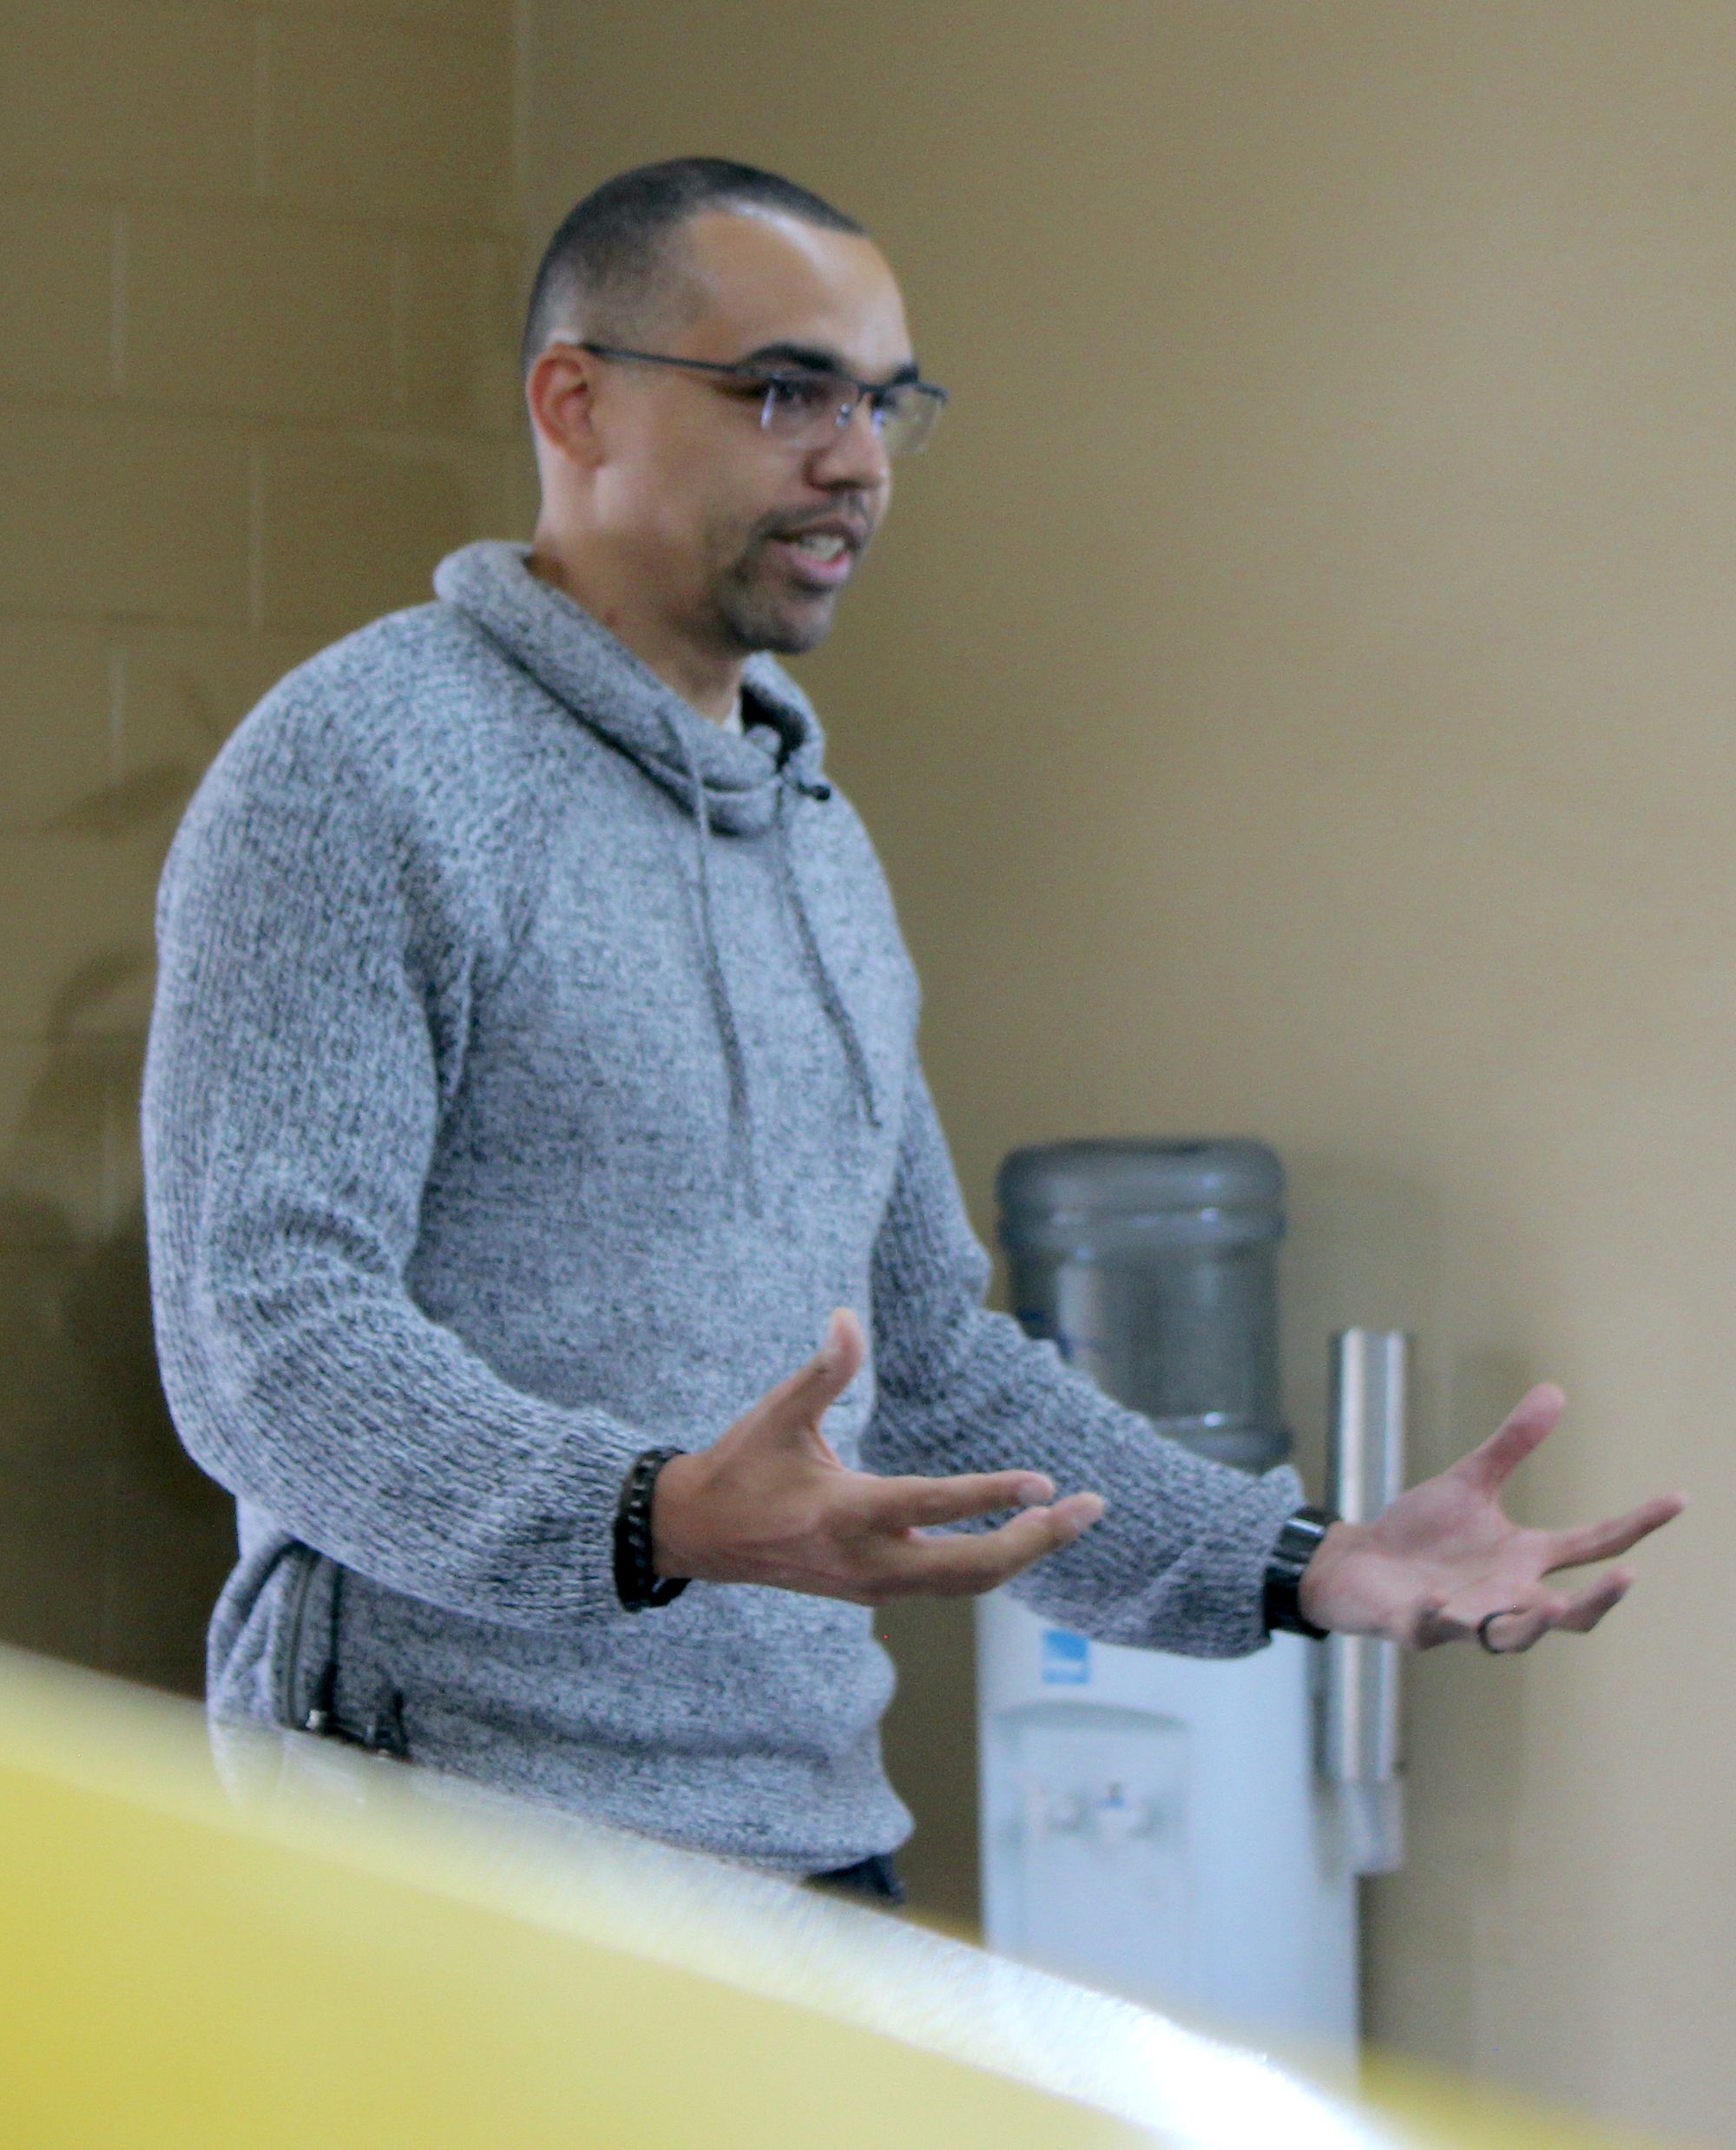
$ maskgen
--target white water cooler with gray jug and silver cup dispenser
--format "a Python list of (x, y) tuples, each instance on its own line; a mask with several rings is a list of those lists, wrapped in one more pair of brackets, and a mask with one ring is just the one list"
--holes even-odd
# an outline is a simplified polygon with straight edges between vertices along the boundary
[[(1278, 1402), (1284, 1176), (1258, 1142), (1067, 1142), (1000, 1172), (1020, 1322), (1119, 1402), (1241, 1471)], [(1405, 1337), (1332, 1342), (1327, 1501), (1403, 1479)], [(1101, 1488), (1114, 1501), (1114, 1486)], [(1357, 1877), (1403, 1855), (1392, 1645), (1276, 1636), (1218, 1662), (979, 1604), (990, 1948), (1278, 2042), (1357, 2038)]]

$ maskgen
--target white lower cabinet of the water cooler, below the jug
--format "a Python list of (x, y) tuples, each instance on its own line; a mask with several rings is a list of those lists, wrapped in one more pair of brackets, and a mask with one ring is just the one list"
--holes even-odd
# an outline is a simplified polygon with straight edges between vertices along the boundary
[(1205, 2027), (1357, 2038), (1357, 1883), (1317, 1769), (1321, 1651), (1168, 1658), (977, 1608), (990, 1948)]

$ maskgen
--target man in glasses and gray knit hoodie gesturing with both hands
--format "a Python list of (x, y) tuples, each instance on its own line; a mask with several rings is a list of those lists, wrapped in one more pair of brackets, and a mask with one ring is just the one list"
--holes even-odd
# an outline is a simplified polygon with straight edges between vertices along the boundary
[(241, 1514), (213, 1709), (820, 1875), (908, 1832), (895, 1595), (1018, 1578), (1205, 1656), (1592, 1628), (1626, 1574), (1547, 1576), (1680, 1503), (1508, 1524), (1555, 1391), (1351, 1529), (983, 1312), (893, 907), (768, 656), (944, 400), (873, 243), (742, 166), (624, 174), (525, 366), (531, 548), (284, 679), (163, 877), (161, 1359)]

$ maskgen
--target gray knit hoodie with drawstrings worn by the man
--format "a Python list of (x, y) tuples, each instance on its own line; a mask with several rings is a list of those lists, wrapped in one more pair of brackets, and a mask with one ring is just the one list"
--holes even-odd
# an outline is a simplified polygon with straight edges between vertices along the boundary
[(639, 1449), (714, 1440), (850, 1305), (848, 1462), (1101, 1488), (1022, 1593), (1203, 1656), (1261, 1643), (1297, 1484), (983, 1312), (916, 978), (783, 671), (751, 662), (734, 735), (518, 546), (435, 587), (267, 694), (163, 875), (157, 1339), (241, 1514), (213, 1709), (777, 1866), (886, 1851), (869, 1612), (703, 1582), (624, 1612)]

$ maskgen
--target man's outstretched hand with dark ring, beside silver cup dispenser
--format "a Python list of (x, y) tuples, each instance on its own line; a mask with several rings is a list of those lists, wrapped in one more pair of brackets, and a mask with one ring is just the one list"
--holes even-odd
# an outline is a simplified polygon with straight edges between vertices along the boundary
[(1411, 1649), (1480, 1636), (1497, 1656), (1529, 1649), (1551, 1628), (1588, 1634), (1626, 1597), (1611, 1567), (1579, 1591), (1549, 1576), (1609, 1561), (1682, 1511), (1659, 1494), (1579, 1531), (1525, 1531), (1502, 1509), (1502, 1486), (1553, 1430), (1564, 1395), (1532, 1389), (1497, 1434), (1424, 1479), (1375, 1522), (1336, 1522), (1301, 1576), (1301, 1610), (1338, 1634), (1379, 1634)]

